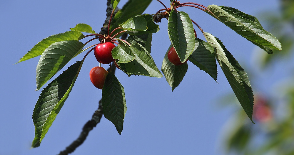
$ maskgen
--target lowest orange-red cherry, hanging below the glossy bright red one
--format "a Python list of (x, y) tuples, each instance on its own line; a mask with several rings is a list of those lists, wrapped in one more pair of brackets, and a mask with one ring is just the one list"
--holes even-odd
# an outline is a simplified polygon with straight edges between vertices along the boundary
[(95, 87), (102, 89), (107, 74), (107, 70), (105, 70), (103, 67), (93, 67), (90, 71), (90, 80)]

